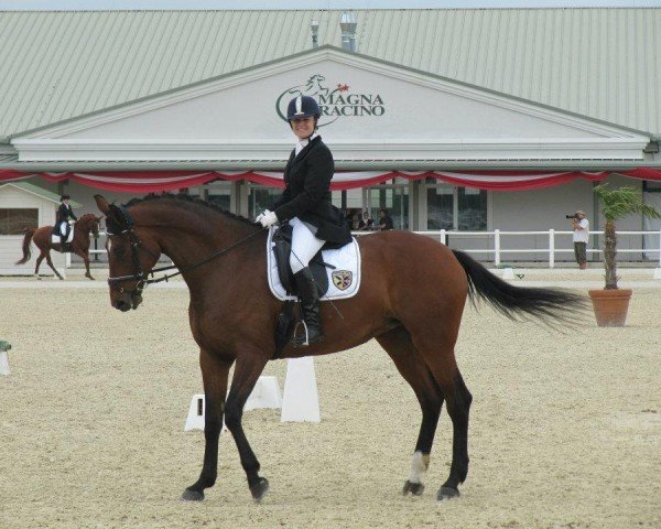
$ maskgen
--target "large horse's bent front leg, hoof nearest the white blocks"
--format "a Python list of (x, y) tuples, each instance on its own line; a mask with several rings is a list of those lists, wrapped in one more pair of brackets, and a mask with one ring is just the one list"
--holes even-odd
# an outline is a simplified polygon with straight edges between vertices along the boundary
[(237, 443), (241, 466), (246, 471), (246, 477), (248, 478), (248, 487), (257, 501), (261, 500), (264, 494), (267, 494), (269, 482), (267, 478), (259, 476), (259, 461), (257, 461), (246, 439), (241, 418), (243, 415), (243, 406), (252, 392), (267, 361), (268, 357), (257, 347), (243, 347), (237, 350), (237, 364), (225, 406), (225, 424), (227, 424)]

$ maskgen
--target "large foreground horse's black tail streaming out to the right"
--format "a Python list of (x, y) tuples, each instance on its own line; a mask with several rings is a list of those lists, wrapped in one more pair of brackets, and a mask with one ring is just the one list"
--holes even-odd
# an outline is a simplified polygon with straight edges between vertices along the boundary
[(510, 320), (529, 315), (550, 325), (571, 322), (587, 306), (585, 296), (560, 289), (516, 287), (489, 272), (463, 251), (452, 252), (468, 276), (468, 295), (474, 305), (476, 299), (487, 301)]

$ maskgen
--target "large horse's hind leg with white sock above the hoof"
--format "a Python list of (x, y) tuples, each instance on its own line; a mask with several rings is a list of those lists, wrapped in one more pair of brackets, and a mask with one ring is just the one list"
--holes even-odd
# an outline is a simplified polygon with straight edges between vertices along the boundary
[(443, 406), (443, 392), (420, 353), (413, 346), (411, 335), (404, 327), (382, 334), (377, 337), (377, 341), (388, 352), (399, 373), (413, 388), (422, 409), (422, 423), (411, 461), (411, 476), (404, 483), (402, 490), (404, 495), (411, 493), (419, 496), (424, 489), (422, 478), (430, 465), (430, 453)]

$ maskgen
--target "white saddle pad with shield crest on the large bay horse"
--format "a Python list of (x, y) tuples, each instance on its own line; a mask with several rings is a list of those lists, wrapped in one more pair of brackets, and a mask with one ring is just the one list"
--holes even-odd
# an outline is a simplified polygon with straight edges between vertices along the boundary
[[(295, 295), (286, 295), (286, 291), (280, 282), (278, 266), (275, 264), (275, 255), (272, 241), (274, 227), (269, 229), (267, 238), (267, 274), (269, 277), (269, 288), (275, 298), (281, 301), (295, 300)], [(324, 262), (335, 268), (326, 268), (328, 273), (328, 292), (322, 296), (322, 301), (346, 300), (353, 298), (360, 287), (360, 248), (354, 237), (351, 242), (337, 250), (323, 250)]]

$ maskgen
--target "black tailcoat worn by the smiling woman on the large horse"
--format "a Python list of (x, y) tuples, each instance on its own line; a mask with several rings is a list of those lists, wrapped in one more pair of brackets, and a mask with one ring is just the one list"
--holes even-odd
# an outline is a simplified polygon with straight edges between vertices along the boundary
[(273, 209), (278, 220), (299, 217), (317, 228), (316, 237), (334, 246), (351, 241), (340, 210), (330, 203), (330, 180), (335, 171), (333, 154), (317, 136), (299, 155), (293, 150), (284, 168), (285, 188)]

